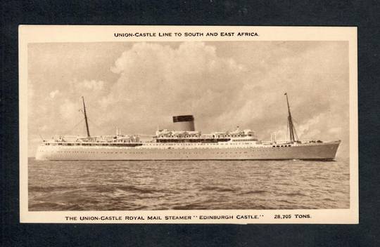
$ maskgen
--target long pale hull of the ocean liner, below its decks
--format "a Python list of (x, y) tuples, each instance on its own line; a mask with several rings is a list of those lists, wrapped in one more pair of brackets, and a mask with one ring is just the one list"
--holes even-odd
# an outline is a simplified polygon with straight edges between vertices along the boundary
[(155, 147), (99, 147), (41, 145), (36, 159), (45, 160), (280, 160), (315, 159), (331, 160), (336, 156), (340, 141), (294, 145), (245, 145), (228, 147), (201, 145), (183, 147), (167, 145)]

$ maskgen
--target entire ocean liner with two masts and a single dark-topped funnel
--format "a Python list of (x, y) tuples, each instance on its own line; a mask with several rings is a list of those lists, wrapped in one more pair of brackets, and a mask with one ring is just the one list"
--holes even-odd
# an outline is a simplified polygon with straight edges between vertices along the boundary
[(91, 136), (86, 106), (83, 113), (87, 136), (60, 136), (43, 140), (37, 148), (36, 159), (45, 160), (332, 160), (340, 140), (298, 140), (293, 125), (288, 95), (289, 140), (261, 141), (246, 129), (209, 134), (196, 131), (194, 116), (173, 116), (172, 130), (159, 130), (151, 140), (142, 141), (139, 135)]

